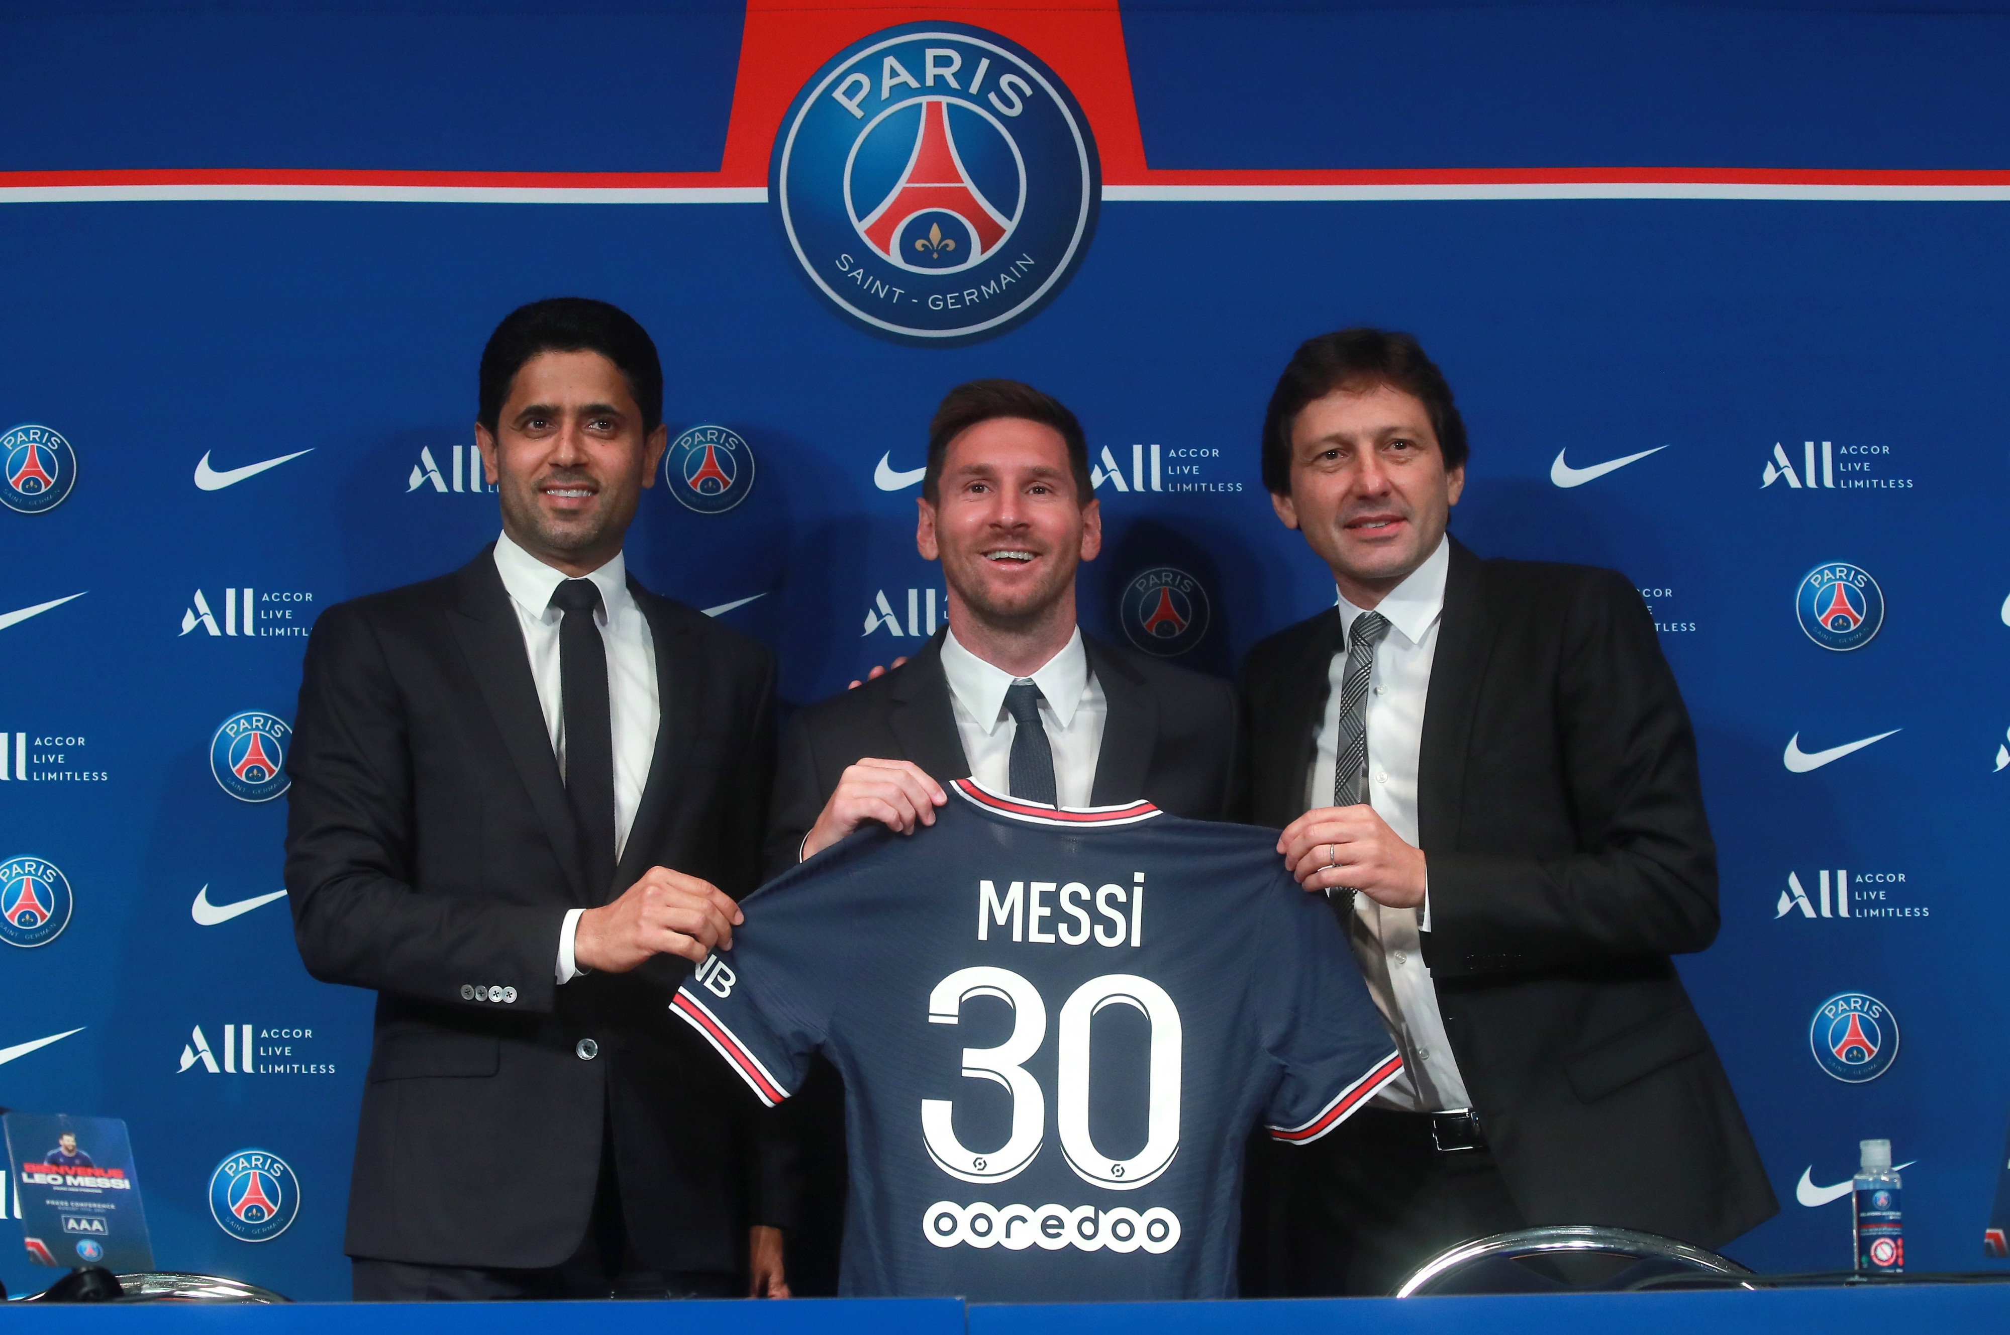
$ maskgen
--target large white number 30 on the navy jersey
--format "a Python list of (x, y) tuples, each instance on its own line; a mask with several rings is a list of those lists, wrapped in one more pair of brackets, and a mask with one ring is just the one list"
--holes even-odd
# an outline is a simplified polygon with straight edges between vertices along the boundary
[[(953, 1025), (969, 997), (999, 997), (1013, 1007), (1011, 1035), (997, 1047), (965, 1047), (963, 1074), (1011, 1092), (1011, 1136), (997, 1150), (979, 1154), (957, 1140), (953, 1104), (921, 1100), (921, 1136), (937, 1166), (963, 1182), (1003, 1182), (1039, 1154), (1047, 1130), (1047, 1096), (1025, 1062), (1047, 1039), (1047, 1003), (1039, 989), (1011, 969), (977, 965), (957, 969), (929, 993), (929, 1019)], [(1132, 1005), (1152, 1021), (1150, 1100), (1144, 1148), (1132, 1158), (1110, 1158), (1089, 1138), (1089, 1019), (1105, 1005)], [(1061, 1047), (1055, 1062), (1055, 1122), (1061, 1154), (1083, 1182), (1130, 1190), (1158, 1178), (1180, 1152), (1180, 1007), (1166, 989), (1136, 973), (1105, 973), (1075, 989), (1061, 1007)]]

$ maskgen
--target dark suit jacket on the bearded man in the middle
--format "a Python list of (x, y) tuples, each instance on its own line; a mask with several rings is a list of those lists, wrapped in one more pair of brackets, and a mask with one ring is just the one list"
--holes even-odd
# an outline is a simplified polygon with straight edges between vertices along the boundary
[[(947, 784), (971, 772), (943, 674), (943, 635), (882, 678), (798, 710), (784, 730), (764, 865), (796, 865), (844, 768), (864, 756), (913, 760)], [(1110, 714), (1095, 758), (1091, 806), (1148, 802), (1196, 820), (1224, 820), (1240, 762), (1236, 698), (1226, 682), (1081, 637)]]

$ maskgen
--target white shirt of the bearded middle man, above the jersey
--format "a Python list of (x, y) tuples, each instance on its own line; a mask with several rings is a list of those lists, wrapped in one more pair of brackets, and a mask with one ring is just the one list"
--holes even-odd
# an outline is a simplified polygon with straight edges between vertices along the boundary
[[(949, 704), (957, 716), (957, 736), (963, 756), (971, 762), (971, 778), (993, 792), (1011, 792), (1011, 740), (1019, 724), (1005, 712), (1005, 692), (1015, 678), (993, 668), (961, 643), (957, 633), (943, 635), (943, 676), (949, 678)], [(1081, 647), (1081, 627), (1067, 637), (1061, 651), (1033, 670), (1039, 688), (1039, 722), (1053, 750), (1053, 794), (1061, 806), (1087, 806), (1095, 790), (1095, 758), (1103, 748), (1103, 720), (1110, 702), (1089, 672), (1089, 653)], [(961, 774), (931, 774), (935, 780)]]

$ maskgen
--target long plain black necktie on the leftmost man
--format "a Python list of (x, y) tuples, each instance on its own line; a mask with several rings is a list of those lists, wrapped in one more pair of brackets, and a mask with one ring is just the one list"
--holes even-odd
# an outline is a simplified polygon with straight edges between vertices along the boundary
[(559, 625), (559, 694), (565, 702), (565, 792), (579, 822), (587, 897), (607, 901), (615, 879), (615, 742), (607, 708), (607, 645), (593, 613), (601, 591), (567, 579), (551, 593), (565, 609)]

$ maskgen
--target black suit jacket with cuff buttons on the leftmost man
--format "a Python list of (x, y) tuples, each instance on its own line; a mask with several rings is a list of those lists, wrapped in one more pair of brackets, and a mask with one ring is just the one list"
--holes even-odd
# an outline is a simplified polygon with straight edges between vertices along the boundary
[[(611, 1126), (641, 1257), (673, 1271), (742, 1265), (754, 1106), (667, 1011), (689, 965), (657, 957), (565, 987), (553, 977), (567, 909), (611, 901), (649, 867), (734, 897), (758, 879), (774, 663), (629, 587), (655, 641), (661, 724), (613, 885), (585, 883), (488, 551), (314, 625), (287, 764), (285, 885), (308, 971), (378, 991), (352, 1257), (565, 1261), (585, 1236)], [(515, 999), (484, 999), (498, 987)]]

